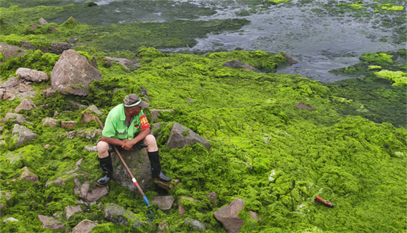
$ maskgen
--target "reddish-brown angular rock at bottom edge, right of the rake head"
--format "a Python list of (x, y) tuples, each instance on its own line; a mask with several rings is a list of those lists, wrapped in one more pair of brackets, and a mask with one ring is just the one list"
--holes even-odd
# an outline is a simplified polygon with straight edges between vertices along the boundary
[(236, 198), (230, 202), (229, 205), (215, 211), (215, 218), (222, 223), (223, 228), (228, 233), (237, 233), (240, 228), (245, 224), (238, 216), (239, 212), (245, 207), (245, 200)]

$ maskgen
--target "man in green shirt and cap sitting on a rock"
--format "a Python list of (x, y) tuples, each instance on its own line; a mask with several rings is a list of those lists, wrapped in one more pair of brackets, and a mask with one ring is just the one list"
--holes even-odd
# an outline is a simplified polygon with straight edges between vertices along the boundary
[(141, 150), (147, 147), (153, 178), (162, 182), (171, 181), (171, 178), (161, 171), (156, 138), (150, 134), (150, 125), (141, 109), (148, 106), (138, 95), (130, 94), (125, 96), (123, 103), (110, 110), (102, 131), (102, 139), (96, 145), (100, 166), (105, 172), (105, 176), (96, 181), (97, 185), (105, 186), (113, 180), (110, 156), (112, 145), (119, 146), (118, 149), (122, 150), (131, 150), (133, 147)]

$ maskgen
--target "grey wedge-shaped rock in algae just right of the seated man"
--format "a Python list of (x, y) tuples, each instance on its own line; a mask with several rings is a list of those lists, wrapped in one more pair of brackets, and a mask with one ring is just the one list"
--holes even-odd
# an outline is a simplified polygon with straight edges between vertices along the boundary
[(184, 146), (189, 146), (197, 142), (201, 143), (208, 150), (211, 148), (211, 144), (208, 141), (191, 129), (176, 122), (172, 125), (170, 137), (167, 141), (169, 148), (183, 148)]

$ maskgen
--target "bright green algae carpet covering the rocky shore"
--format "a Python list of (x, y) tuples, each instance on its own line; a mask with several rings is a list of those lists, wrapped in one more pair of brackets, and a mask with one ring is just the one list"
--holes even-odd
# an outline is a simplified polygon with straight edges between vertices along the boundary
[[(4, 8), (1, 8), (2, 15), (3, 11)], [(2, 25), (2, 33), (9, 30), (15, 34), (2, 34), (1, 40), (12, 44), (22, 39), (32, 43), (44, 40), (47, 43), (61, 42), (70, 36), (79, 38), (80, 30), (92, 28), (103, 32), (109, 28), (83, 23), (72, 27), (54, 23), (51, 25), (58, 27), (57, 34), (24, 34), (33, 20), (38, 18), (22, 19), (18, 25), (9, 24), (7, 27), (11, 29), (3, 29)], [(219, 22), (221, 25), (227, 21)], [(216, 24), (216, 21), (208, 22), (212, 26), (213, 23)], [(164, 24), (154, 25), (162, 27)], [(124, 29), (126, 25), (121, 27)], [(102, 39), (103, 36), (95, 36), (91, 41)], [(106, 48), (110, 48), (110, 43), (106, 42)], [(138, 45), (133, 46), (136, 48)], [(371, 57), (388, 58), (380, 56), (385, 53), (393, 56), (393, 64), (389, 64), (388, 59), (380, 60), (380, 64), (369, 62), (363, 64), (367, 72), (363, 73), (365, 79), (354, 79), (354, 83), (349, 80), (342, 86), (324, 86), (300, 75), (257, 73), (222, 66), (224, 62), (240, 60), (265, 71), (274, 71), (285, 65), (281, 54), (241, 50), (202, 55), (165, 54), (146, 47), (139, 48), (137, 52), (107, 53), (106, 48), (82, 46), (76, 50), (82, 51), (88, 58), (95, 56), (100, 59), (111, 54), (133, 60), (138, 58), (141, 68), (130, 72), (120, 64), (105, 68), (103, 62), (99, 62), (103, 78), (91, 84), (91, 93), (87, 97), (56, 94), (55, 98), (45, 98), (42, 94), (37, 95), (32, 100), (38, 107), (21, 112), (33, 123), (22, 125), (37, 133), (37, 138), (17, 148), (14, 147), (16, 141), (11, 138), (14, 123), (7, 120), (0, 124), (4, 127), (1, 134), (6, 143), (0, 148), (0, 187), (2, 193), (11, 194), (9, 201), (5, 197), (0, 199), (5, 204), (1, 218), (12, 216), (19, 219), (19, 222), (0, 223), (2, 232), (69, 232), (85, 218), (99, 222), (92, 233), (156, 232), (162, 220), (168, 222), (168, 232), (193, 232), (194, 228), (183, 224), (186, 218), (203, 222), (206, 232), (225, 232), (213, 213), (235, 198), (246, 200), (245, 211), (240, 215), (246, 224), (241, 232), (370, 233), (407, 230), (407, 146), (406, 129), (401, 120), (406, 114), (402, 110), (389, 114), (389, 108), (406, 109), (403, 105), (406, 92), (401, 87), (392, 86), (390, 81), (374, 76), (378, 69), (368, 68), (381, 66), (394, 70), (391, 67), (405, 67), (404, 63), (395, 63), (394, 60), (395, 54), (402, 57), (402, 51), (364, 56), (366, 60)], [(8, 79), (21, 66), (49, 74), (58, 58), (58, 55), (38, 50), (20, 58), (10, 58), (0, 66), (1, 79)], [(370, 88), (366, 89), (363, 83), (369, 80), (376, 84), (366, 84)], [(39, 92), (49, 86), (49, 82), (33, 84)], [(74, 177), (67, 176), (65, 172), (73, 170), (75, 163), (83, 158), (80, 172), (86, 172), (91, 186), (101, 175), (96, 153), (83, 149), (84, 146), (93, 146), (98, 138), (76, 137), (71, 140), (62, 134), (99, 128), (96, 122), (80, 123), (82, 110), (73, 109), (69, 100), (95, 104), (103, 112), (100, 117), (103, 121), (109, 110), (122, 102), (126, 94), (139, 93), (141, 86), (147, 89), (152, 108), (176, 111), (175, 114), (162, 113), (157, 120), (170, 122), (157, 138), (163, 170), (166, 175), (181, 179), (181, 183), (168, 194), (176, 200), (187, 196), (202, 201), (183, 200), (187, 210), (183, 216), (178, 215), (176, 207), (165, 213), (157, 211), (152, 225), (132, 230), (106, 221), (103, 206), (109, 202), (117, 203), (136, 213), (141, 220), (147, 220), (144, 215), (147, 207), (140, 195), (112, 182), (109, 194), (98, 201), (101, 208), (82, 204), (84, 212), (65, 219), (65, 206), (76, 205), (78, 200), (73, 191)], [(115, 88), (122, 89), (114, 91)], [(371, 103), (376, 102), (382, 108), (371, 107), (371, 103), (360, 98), (351, 98), (351, 95), (360, 97), (366, 93), (379, 96)], [(188, 99), (194, 101), (188, 102)], [(296, 110), (298, 102), (313, 105), (315, 110)], [(0, 118), (19, 103), (18, 99), (1, 101)], [(364, 115), (354, 113), (366, 111), (345, 111), (361, 105), (365, 106), (363, 111), (369, 110)], [(76, 120), (78, 123), (67, 129), (42, 126), (41, 120), (52, 117), (55, 111), (59, 112), (56, 119)], [(146, 113), (150, 117), (148, 110)], [(206, 150), (200, 144), (182, 149), (168, 148), (166, 141), (173, 122), (203, 136), (210, 141), (211, 149)], [(44, 147), (46, 144), (49, 147)], [(18, 180), (24, 166), (38, 175), (40, 182)], [(63, 176), (67, 178), (65, 185), (45, 187), (48, 181)], [(218, 195), (217, 206), (205, 196), (213, 191)], [(149, 200), (167, 194), (158, 188), (145, 190), (145, 193)], [(317, 195), (333, 202), (335, 207), (327, 208), (314, 202), (313, 198)], [(257, 212), (262, 220), (255, 222), (246, 212), (248, 210)], [(43, 229), (37, 216), (52, 216), (54, 213), (62, 215), (57, 219), (63, 221), (66, 227), (58, 231)]]

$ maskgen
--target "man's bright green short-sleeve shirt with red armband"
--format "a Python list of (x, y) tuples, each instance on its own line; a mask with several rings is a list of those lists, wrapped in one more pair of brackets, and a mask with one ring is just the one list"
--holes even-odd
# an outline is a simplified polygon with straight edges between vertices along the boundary
[(131, 140), (134, 138), (135, 133), (150, 127), (143, 110), (139, 115), (133, 117), (128, 127), (125, 122), (125, 109), (122, 103), (110, 110), (108, 117), (106, 117), (102, 135), (120, 140)]

